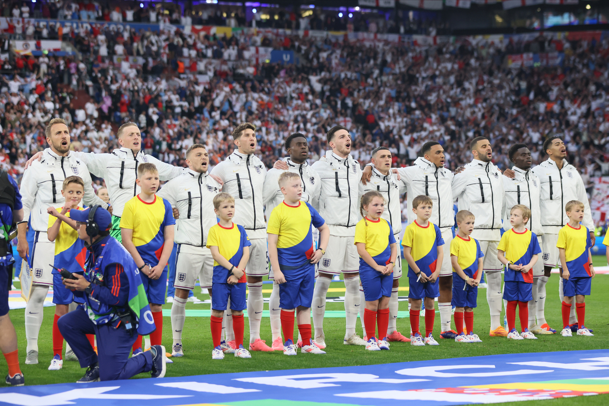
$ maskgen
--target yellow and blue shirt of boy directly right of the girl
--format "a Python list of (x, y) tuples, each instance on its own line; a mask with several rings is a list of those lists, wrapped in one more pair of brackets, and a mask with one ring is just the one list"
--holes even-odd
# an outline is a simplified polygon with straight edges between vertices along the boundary
[[(411, 247), (410, 255), (417, 267), (427, 276), (435, 272), (438, 262), (438, 247), (444, 245), (442, 232), (437, 225), (428, 222), (426, 227), (420, 226), (417, 220), (410, 223), (404, 230), (402, 239), (404, 247)], [(417, 278), (415, 271), (408, 267), (408, 277)]]

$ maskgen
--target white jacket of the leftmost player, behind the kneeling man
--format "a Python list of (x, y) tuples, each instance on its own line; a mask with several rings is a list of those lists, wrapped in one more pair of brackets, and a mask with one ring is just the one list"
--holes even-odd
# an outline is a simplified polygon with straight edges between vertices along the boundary
[(27, 168), (19, 187), (23, 201), (23, 220), (27, 221), (31, 214), (32, 228), (35, 231), (46, 233), (49, 227), (49, 214), (46, 210), (65, 203), (62, 195), (63, 180), (74, 175), (82, 178), (85, 183), (82, 203), (108, 208), (108, 205), (96, 196), (86, 164), (78, 159), (73, 151), (70, 151), (68, 156), (58, 156), (47, 148), (41, 160), (33, 161)]

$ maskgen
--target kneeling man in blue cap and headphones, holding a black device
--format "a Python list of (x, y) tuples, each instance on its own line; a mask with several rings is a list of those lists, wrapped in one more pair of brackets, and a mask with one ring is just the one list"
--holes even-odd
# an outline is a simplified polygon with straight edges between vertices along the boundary
[[(74, 350), (81, 368), (88, 367), (78, 382), (129, 379), (150, 371), (153, 378), (165, 376), (165, 348), (153, 345), (136, 357), (129, 352), (138, 334), (155, 330), (146, 294), (139, 294), (139, 270), (122, 245), (110, 236), (111, 215), (98, 205), (72, 209), (79, 238), (88, 249), (84, 276), (72, 273), (63, 279), (66, 288), (85, 303), (63, 315), (57, 325)], [(67, 276), (67, 275), (66, 275)], [(86, 334), (97, 337), (97, 354)]]

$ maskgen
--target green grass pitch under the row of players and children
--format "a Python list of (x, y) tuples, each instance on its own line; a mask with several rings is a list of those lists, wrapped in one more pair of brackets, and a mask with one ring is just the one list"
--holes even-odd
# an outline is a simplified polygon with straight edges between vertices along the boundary
[[(594, 264), (607, 265), (604, 256), (595, 256)], [(404, 262), (404, 265), (406, 263)], [(401, 284), (407, 285), (407, 278), (402, 278)], [(342, 282), (333, 282), (332, 288), (344, 288)], [(270, 289), (264, 285), (263, 289)], [(324, 330), (327, 355), (303, 357), (285, 357), (281, 352), (253, 352), (252, 359), (235, 359), (226, 357), (222, 361), (211, 360), (211, 333), (209, 331), (208, 317), (187, 317), (183, 332), (183, 346), (185, 357), (174, 359), (175, 363), (167, 365), (166, 376), (189, 376), (200, 374), (237, 373), (246, 371), (273, 370), (273, 369), (300, 369), (323, 368), (328, 366), (354, 366), (373, 365), (379, 363), (421, 361), (445, 359), (455, 357), (471, 357), (476, 355), (513, 354), (521, 352), (570, 351), (586, 349), (609, 348), (609, 324), (606, 311), (609, 308), (609, 297), (604, 292), (609, 291), (609, 276), (598, 275), (593, 280), (592, 295), (586, 298), (586, 325), (594, 329), (594, 337), (563, 338), (559, 334), (539, 335), (538, 340), (508, 341), (503, 337), (488, 337), (490, 317), (485, 298), (485, 290), (481, 290), (478, 298), (478, 307), (474, 310), (474, 331), (481, 337), (482, 343), (475, 345), (460, 345), (452, 340), (439, 340), (437, 347), (412, 347), (409, 343), (392, 343), (391, 351), (368, 352), (363, 347), (345, 346), (342, 343), (345, 332), (343, 318), (326, 318)], [(406, 296), (407, 292), (400, 292)], [(208, 299), (206, 293), (195, 288), (195, 295), (200, 299)], [(270, 293), (264, 293), (269, 296)], [(328, 296), (343, 296), (343, 293), (328, 293)], [(266, 309), (267, 305), (265, 305)], [(164, 309), (171, 309), (171, 304), (165, 304)], [(188, 303), (186, 309), (209, 309), (208, 304)], [(344, 310), (342, 303), (328, 303), (327, 310)], [(400, 310), (407, 310), (407, 303), (400, 302)], [(52, 354), (52, 321), (54, 307), (44, 308), (44, 322), (38, 338), (40, 363), (38, 365), (25, 365), (26, 338), (24, 329), (23, 309), (11, 310), (10, 318), (15, 325), (19, 341), (19, 359), (21, 369), (26, 377), (27, 385), (44, 385), (47, 383), (75, 382), (80, 379), (84, 369), (80, 369), (77, 362), (65, 362), (60, 371), (48, 371), (47, 368)], [(503, 313), (502, 313), (503, 315)], [(440, 336), (439, 315), (436, 317), (435, 337)], [(558, 301), (558, 275), (552, 275), (547, 283), (546, 319), (549, 324), (560, 331), (561, 315)], [(422, 323), (422, 319), (421, 319)], [(171, 351), (171, 319), (163, 320), (163, 344), (167, 351)], [(516, 320), (518, 324), (518, 320)], [(409, 333), (409, 319), (398, 318), (398, 331), (404, 335)], [(357, 334), (362, 335), (361, 325), (357, 322)], [(262, 318), (261, 337), (270, 345), (270, 325), (268, 318)], [(245, 341), (248, 340), (247, 321), (245, 322)], [(0, 371), (7, 371), (4, 357), (0, 357)], [(142, 374), (141, 377), (147, 377)], [(516, 402), (514, 406), (526, 406), (530, 402)], [(609, 394), (599, 396), (586, 396), (568, 399), (555, 399), (545, 401), (543, 405), (607, 405)], [(506, 404), (507, 405), (507, 404)], [(512, 404), (510, 404), (512, 405)]]

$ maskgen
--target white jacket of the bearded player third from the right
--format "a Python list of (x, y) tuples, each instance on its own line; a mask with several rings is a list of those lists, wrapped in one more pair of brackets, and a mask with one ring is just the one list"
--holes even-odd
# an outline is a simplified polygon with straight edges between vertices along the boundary
[(477, 240), (501, 240), (504, 205), (501, 176), (493, 163), (474, 159), (452, 180), (452, 195), (459, 199), (459, 210), (469, 210), (476, 216), (471, 236)]

